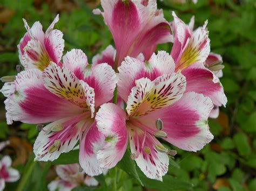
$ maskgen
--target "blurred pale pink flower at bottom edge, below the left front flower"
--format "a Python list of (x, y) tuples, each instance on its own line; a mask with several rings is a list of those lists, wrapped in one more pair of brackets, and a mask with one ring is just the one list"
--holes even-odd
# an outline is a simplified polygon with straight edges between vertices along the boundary
[(73, 188), (84, 184), (87, 186), (98, 185), (95, 178), (85, 175), (83, 171), (79, 170), (78, 164), (57, 165), (56, 173), (58, 175), (57, 179), (51, 181), (48, 185), (50, 191), (71, 191)]

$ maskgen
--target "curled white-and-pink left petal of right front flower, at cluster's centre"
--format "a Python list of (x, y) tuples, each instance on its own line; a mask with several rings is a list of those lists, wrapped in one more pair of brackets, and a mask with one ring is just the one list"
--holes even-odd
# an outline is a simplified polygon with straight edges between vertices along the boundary
[(127, 147), (126, 114), (117, 105), (105, 103), (95, 118), (98, 130), (105, 136), (104, 146), (97, 152), (97, 160), (100, 166), (112, 168), (123, 158)]

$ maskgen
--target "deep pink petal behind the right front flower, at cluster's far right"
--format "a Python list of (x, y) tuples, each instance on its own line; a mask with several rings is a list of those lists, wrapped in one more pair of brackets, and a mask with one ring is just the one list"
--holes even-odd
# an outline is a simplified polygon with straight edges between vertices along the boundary
[(203, 64), (196, 63), (184, 69), (182, 73), (186, 76), (186, 92), (195, 91), (210, 97), (214, 105), (226, 105), (227, 98), (218, 77), (215, 77)]

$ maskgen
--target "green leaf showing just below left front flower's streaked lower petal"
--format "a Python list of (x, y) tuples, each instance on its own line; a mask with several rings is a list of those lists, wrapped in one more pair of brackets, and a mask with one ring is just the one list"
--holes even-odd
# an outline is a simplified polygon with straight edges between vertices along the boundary
[(62, 153), (60, 154), (59, 158), (52, 161), (53, 165), (65, 165), (73, 163), (79, 163), (79, 150)]

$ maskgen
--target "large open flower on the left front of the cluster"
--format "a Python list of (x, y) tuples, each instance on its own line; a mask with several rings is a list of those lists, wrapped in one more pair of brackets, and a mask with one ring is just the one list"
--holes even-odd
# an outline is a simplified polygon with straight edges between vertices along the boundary
[(95, 155), (102, 135), (93, 116), (99, 105), (112, 100), (117, 79), (111, 66), (90, 65), (80, 49), (72, 49), (62, 66), (51, 62), (43, 71), (25, 70), (14, 83), (14, 94), (5, 100), (8, 124), (50, 123), (33, 146), (36, 160), (55, 160), (80, 140), (80, 165), (86, 174), (102, 173)]

